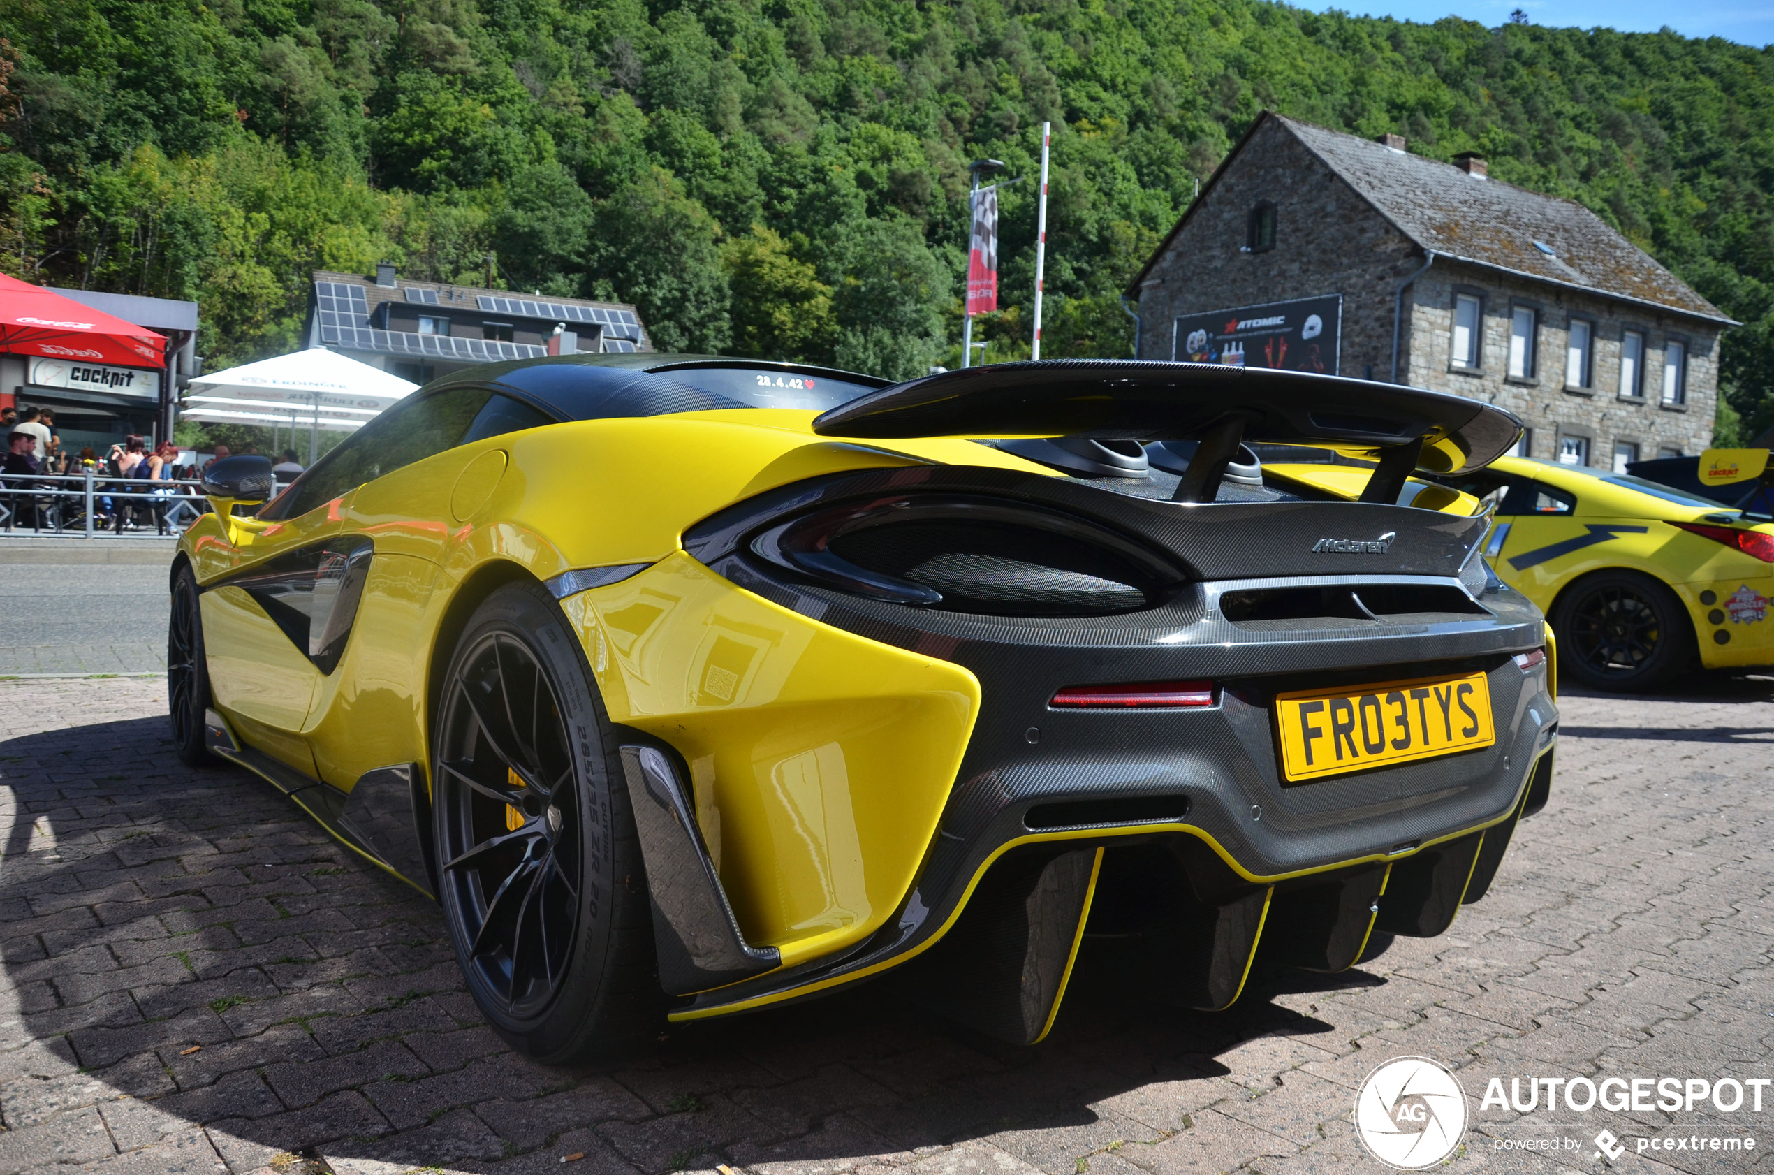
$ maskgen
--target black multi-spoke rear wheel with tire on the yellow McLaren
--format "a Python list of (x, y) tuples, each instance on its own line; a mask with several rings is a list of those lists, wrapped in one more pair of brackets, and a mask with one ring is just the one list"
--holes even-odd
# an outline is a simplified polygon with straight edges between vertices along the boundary
[(610, 724), (555, 602), (475, 611), (438, 698), (438, 887), (481, 1012), (545, 1061), (651, 1031), (651, 909)]

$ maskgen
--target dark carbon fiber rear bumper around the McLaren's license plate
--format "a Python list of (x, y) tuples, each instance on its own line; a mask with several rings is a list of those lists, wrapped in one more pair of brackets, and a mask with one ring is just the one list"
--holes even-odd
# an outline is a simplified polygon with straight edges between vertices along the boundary
[[(1543, 618), (1508, 589), (1483, 600), (1490, 614), (1481, 618), (1288, 628), (1224, 618), (1219, 596), (1261, 586), (1252, 582), (1206, 584), (1135, 618), (1017, 621), (855, 600), (789, 582), (738, 556), (717, 561), (715, 570), (821, 627), (965, 667), (979, 682), (981, 703), (937, 834), (894, 916), (830, 957), (703, 992), (674, 1019), (798, 999), (901, 964), (954, 925), (995, 861), (1029, 845), (1187, 838), (1219, 859), (1231, 884), (1268, 887), (1330, 871), (1377, 871), (1378, 886), (1394, 864), (1428, 861), (1433, 852), (1426, 850), (1437, 845), (1513, 827), (1535, 767), (1556, 740), (1545, 667), (1524, 671), (1513, 660), (1545, 643)], [(1494, 745), (1283, 783), (1270, 722), (1276, 692), (1474, 669), (1490, 683)], [(1048, 705), (1064, 685), (1141, 680), (1210, 680), (1215, 703), (1160, 712)], [(1128, 799), (1171, 800), (1174, 813), (1144, 804), (1158, 815), (1128, 820), (1111, 809), (1098, 820), (1102, 809), (1093, 811), (1103, 800)], [(1490, 838), (1490, 854), (1476, 840), (1467, 843), (1455, 905), (1481, 866), (1495, 870), (1504, 834)], [(1410, 916), (1401, 914), (1401, 925)]]

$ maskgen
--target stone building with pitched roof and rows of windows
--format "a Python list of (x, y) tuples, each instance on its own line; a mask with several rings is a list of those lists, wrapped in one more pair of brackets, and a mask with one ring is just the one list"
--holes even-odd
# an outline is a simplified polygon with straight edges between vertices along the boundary
[(1139, 357), (1497, 403), (1520, 453), (1620, 469), (1712, 440), (1730, 318), (1572, 201), (1263, 114), (1128, 288)]

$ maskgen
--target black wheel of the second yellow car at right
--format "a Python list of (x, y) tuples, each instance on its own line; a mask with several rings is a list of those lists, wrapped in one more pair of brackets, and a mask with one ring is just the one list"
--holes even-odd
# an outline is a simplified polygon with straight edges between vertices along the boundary
[(1650, 690), (1694, 660), (1682, 602), (1637, 572), (1597, 572), (1552, 607), (1559, 676), (1605, 690)]

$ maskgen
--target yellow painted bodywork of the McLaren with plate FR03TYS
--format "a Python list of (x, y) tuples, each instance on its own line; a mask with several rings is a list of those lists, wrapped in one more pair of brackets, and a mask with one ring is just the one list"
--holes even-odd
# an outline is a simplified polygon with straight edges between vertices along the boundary
[[(812, 435), (812, 417), (749, 408), (552, 424), (447, 449), (287, 522), (206, 515), (181, 541), (199, 584), (334, 536), (369, 536), (376, 550), (353, 635), (330, 674), (250, 595), (206, 591), (215, 708), (250, 745), (344, 792), (396, 763), (419, 763), (429, 776), (433, 658), (459, 593), (472, 600), (483, 575), (513, 568), (548, 580), (646, 564), (562, 600), (608, 717), (671, 744), (690, 765), (695, 816), (749, 942), (779, 948), (784, 967), (852, 946), (915, 882), (979, 714), (979, 682), (953, 662), (734, 586), (683, 550), (679, 527), (832, 472), (946, 463), (1059, 474), (969, 440), (883, 447), (823, 438)], [(1297, 469), (1313, 477), (1325, 467)], [(1332, 479), (1359, 493), (1348, 472)], [(1476, 508), (1471, 495), (1439, 486), (1423, 493), (1421, 504), (1449, 513)], [(1247, 880), (1281, 880), (1247, 873), (1192, 825), (1126, 832), (1157, 831), (1201, 838)], [(965, 895), (1002, 852), (1077, 836), (1086, 832), (1031, 832), (999, 847)], [(679, 1015), (773, 1003), (903, 962), (953, 925), (965, 895), (901, 958)]]

